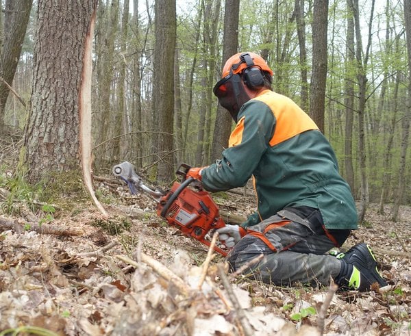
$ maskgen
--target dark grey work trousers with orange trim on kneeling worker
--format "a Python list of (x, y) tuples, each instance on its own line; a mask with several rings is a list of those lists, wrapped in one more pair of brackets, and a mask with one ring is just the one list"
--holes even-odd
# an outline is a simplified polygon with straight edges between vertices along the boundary
[(303, 210), (301, 214), (299, 208), (288, 208), (247, 228), (247, 235), (227, 255), (232, 270), (262, 254), (245, 274), (280, 286), (328, 285), (340, 272), (340, 261), (325, 253), (338, 243), (323, 228), (319, 210)]

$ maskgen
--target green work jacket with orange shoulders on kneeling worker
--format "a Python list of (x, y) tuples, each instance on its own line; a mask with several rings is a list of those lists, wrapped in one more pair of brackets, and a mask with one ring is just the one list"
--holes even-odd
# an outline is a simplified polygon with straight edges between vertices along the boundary
[(242, 106), (223, 158), (201, 172), (210, 192), (238, 188), (253, 177), (258, 215), (247, 227), (286, 207), (321, 211), (327, 229), (357, 229), (356, 205), (338, 173), (336, 155), (312, 119), (271, 90)]

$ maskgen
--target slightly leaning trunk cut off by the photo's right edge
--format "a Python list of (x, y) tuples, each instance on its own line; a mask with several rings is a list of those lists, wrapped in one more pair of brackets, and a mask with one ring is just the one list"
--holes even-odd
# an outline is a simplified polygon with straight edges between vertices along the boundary
[(399, 159), (399, 179), (397, 186), (397, 197), (395, 197), (393, 207), (393, 221), (397, 222), (399, 217), (399, 205), (403, 198), (403, 192), (406, 188), (405, 175), (407, 164), (408, 138), (410, 136), (410, 118), (411, 118), (411, 0), (404, 0), (404, 18), (406, 23), (406, 40), (408, 53), (408, 100), (406, 111), (402, 121), (401, 134), (401, 157)]

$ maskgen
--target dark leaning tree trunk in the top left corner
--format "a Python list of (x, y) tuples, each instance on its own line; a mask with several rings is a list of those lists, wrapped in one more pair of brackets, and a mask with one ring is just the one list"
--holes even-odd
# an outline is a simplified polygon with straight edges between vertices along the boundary
[(0, 31), (0, 133), (5, 129), (4, 107), (10, 91), (6, 83), (12, 86), (29, 23), (32, 2), (33, 0), (5, 1), (4, 41)]

